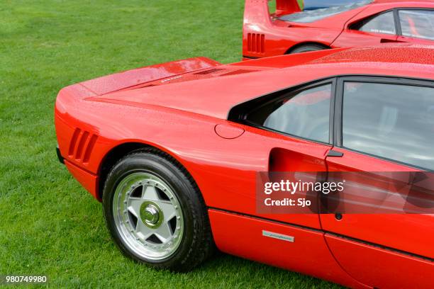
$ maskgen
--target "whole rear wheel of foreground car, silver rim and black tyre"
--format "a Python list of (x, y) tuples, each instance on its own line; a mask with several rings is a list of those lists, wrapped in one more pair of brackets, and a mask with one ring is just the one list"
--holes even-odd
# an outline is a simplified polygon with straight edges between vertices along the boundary
[(104, 216), (126, 256), (189, 271), (213, 251), (208, 213), (186, 169), (157, 149), (120, 159), (104, 184)]

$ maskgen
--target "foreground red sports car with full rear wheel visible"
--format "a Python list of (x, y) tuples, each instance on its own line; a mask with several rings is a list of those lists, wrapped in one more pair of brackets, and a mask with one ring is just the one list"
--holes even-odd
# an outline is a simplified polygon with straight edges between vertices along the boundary
[(277, 214), (256, 198), (257, 172), (432, 171), (433, 55), (198, 57), (84, 81), (57, 96), (57, 155), (151, 266), (188, 271), (216, 246), (352, 288), (434, 288), (434, 215)]

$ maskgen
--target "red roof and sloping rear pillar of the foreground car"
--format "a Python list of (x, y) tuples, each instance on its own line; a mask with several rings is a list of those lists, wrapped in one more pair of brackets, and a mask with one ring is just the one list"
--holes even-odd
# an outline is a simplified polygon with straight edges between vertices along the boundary
[[(99, 101), (125, 101), (128, 105), (151, 105), (173, 108), (226, 119), (231, 108), (259, 96), (292, 86), (340, 75), (410, 77), (434, 80), (434, 46), (382, 45), (347, 50), (328, 50), (328, 55), (315, 59), (316, 53), (269, 57), (225, 67), (258, 67), (256, 72), (184, 81), (121, 91), (99, 96)], [(324, 55), (324, 54), (322, 54)], [(292, 58), (291, 58), (292, 57)], [(308, 62), (282, 62), (311, 58)], [(267, 68), (267, 69), (260, 69)]]

